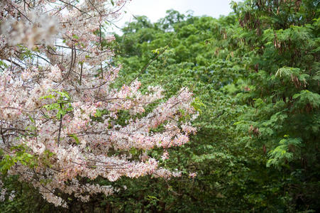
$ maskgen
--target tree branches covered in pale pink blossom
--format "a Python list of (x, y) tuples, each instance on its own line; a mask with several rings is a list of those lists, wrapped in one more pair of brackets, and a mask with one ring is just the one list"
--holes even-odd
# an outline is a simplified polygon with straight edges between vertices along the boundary
[(83, 178), (179, 175), (148, 151), (163, 148), (165, 160), (167, 148), (196, 131), (186, 119), (195, 112), (187, 88), (165, 100), (161, 87), (140, 92), (137, 80), (112, 87), (120, 67), (101, 45), (114, 37), (101, 28), (125, 4), (0, 1), (1, 171), (19, 175), (55, 205), (67, 207), (60, 192), (85, 202), (114, 191)]

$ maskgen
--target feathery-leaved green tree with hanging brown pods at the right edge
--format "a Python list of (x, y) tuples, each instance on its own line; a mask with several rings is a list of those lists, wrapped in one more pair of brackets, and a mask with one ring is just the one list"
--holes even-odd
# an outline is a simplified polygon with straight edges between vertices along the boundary
[[(243, 27), (234, 37), (253, 55), (247, 65), (250, 92), (238, 95), (248, 113), (239, 117), (237, 129), (250, 133), (251, 144), (265, 146), (267, 167), (287, 177), (287, 211), (316, 211), (319, 1), (245, 1), (233, 6)], [(309, 193), (311, 188), (315, 194)]]

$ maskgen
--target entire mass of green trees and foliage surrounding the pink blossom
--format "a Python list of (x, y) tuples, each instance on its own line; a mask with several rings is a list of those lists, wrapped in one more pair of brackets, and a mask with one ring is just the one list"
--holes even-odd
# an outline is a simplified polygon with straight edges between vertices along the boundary
[[(172, 10), (157, 23), (139, 16), (108, 44), (116, 51), (114, 62), (123, 65), (115, 87), (138, 77), (142, 89), (160, 84), (167, 96), (184, 86), (194, 92), (199, 131), (162, 162), (182, 170), (182, 178), (121, 178), (114, 185), (127, 190), (86, 204), (70, 197), (66, 210), (39, 203), (35, 190), (11, 177), (6, 186), (21, 190), (0, 208), (319, 212), (320, 1), (253, 0), (231, 6), (234, 12), (218, 19)], [(189, 178), (189, 172), (197, 177)]]

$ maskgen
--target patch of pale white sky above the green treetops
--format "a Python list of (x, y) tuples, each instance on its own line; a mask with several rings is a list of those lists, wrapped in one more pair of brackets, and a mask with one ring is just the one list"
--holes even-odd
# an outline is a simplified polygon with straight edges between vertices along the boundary
[[(212, 16), (219, 18), (231, 12), (231, 0), (132, 0), (123, 8), (126, 11), (115, 24), (119, 28), (126, 22), (133, 21), (134, 16), (147, 16), (151, 22), (165, 17), (165, 11), (175, 9), (180, 13), (194, 11), (194, 16)], [(120, 31), (114, 28), (116, 33)]]

